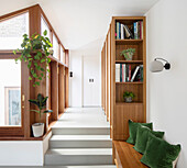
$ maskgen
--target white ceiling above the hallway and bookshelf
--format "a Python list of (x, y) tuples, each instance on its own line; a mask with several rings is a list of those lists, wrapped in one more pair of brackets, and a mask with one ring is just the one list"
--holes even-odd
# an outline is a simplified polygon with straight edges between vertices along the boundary
[(0, 15), (40, 3), (66, 48), (103, 38), (112, 15), (144, 15), (158, 0), (0, 0)]

